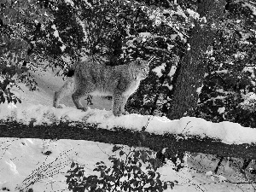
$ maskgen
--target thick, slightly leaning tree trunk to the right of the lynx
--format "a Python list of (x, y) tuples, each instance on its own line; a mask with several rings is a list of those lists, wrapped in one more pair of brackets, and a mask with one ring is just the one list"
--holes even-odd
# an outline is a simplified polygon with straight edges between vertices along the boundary
[(204, 78), (206, 63), (204, 55), (209, 45), (212, 45), (220, 19), (224, 15), (224, 0), (198, 1), (201, 19), (195, 21), (195, 26), (189, 38), (189, 48), (181, 61), (181, 68), (172, 96), (172, 108), (167, 117), (180, 119), (189, 110), (196, 107), (198, 91)]

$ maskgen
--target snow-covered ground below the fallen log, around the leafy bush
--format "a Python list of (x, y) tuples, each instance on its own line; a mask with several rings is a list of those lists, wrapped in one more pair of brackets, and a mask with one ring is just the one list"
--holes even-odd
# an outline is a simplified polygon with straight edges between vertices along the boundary
[[(66, 184), (67, 170), (70, 168), (72, 161), (84, 166), (86, 175), (96, 174), (92, 170), (96, 162), (103, 160), (106, 165), (110, 165), (108, 155), (112, 155), (113, 145), (106, 143), (95, 143), (87, 141), (72, 141), (72, 140), (58, 140), (48, 141), (52, 146), (52, 154), (42, 154), (45, 141), (40, 139), (29, 138), (1, 138), (1, 146), (5, 148), (1, 150), (0, 158), (0, 191), (17, 191), (15, 189), (25, 189), (26, 187), (32, 188), (33, 191), (68, 191)], [(8, 148), (8, 149), (7, 149)], [(128, 147), (126, 147), (128, 149)], [(142, 148), (143, 149), (143, 148)], [(201, 162), (201, 166), (212, 168), (216, 166), (216, 162), (208, 164), (212, 156), (200, 155), (194, 156), (189, 159), (188, 166), (194, 166), (197, 172), (191, 172), (189, 167), (183, 168), (180, 172), (172, 170), (172, 162), (167, 161), (165, 166), (158, 169), (161, 174), (161, 179), (164, 181), (177, 180), (177, 185), (173, 190), (167, 191), (191, 191), (196, 192), (198, 186), (204, 183), (202, 189), (207, 191), (242, 191), (235, 184), (231, 185), (226, 183), (218, 186), (216, 184), (223, 182), (230, 174), (234, 174), (230, 168), (221, 166), (220, 172), (225, 175), (210, 175), (219, 178), (219, 181), (212, 183), (211, 178), (199, 174), (204, 172), (201, 166), (196, 166), (196, 159), (204, 158), (205, 162)], [(206, 164), (206, 165), (205, 165)], [(45, 168), (46, 167), (46, 168)], [(225, 170), (225, 173), (223, 172)], [(236, 179), (233, 176), (233, 179)], [(32, 184), (34, 183), (34, 184)], [(2, 189), (2, 190), (1, 190)], [(250, 191), (249, 189), (246, 191)]]

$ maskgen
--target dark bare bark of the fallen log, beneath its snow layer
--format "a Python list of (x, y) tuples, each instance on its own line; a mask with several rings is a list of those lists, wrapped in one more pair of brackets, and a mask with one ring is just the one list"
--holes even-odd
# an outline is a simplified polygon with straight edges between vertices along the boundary
[(183, 137), (183, 135), (155, 135), (147, 131), (131, 131), (125, 127), (112, 130), (98, 128), (96, 124), (61, 122), (52, 125), (23, 125), (18, 122), (0, 122), (0, 137), (72, 139), (101, 143), (122, 144), (150, 148), (167, 153), (217, 154), (223, 157), (237, 157), (256, 160), (256, 143), (226, 144), (208, 137)]

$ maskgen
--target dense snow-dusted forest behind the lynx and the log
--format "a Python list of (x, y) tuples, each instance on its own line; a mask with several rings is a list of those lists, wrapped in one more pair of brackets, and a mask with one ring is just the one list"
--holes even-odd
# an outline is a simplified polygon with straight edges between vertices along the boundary
[(255, 125), (256, 3), (249, 0), (0, 1), (0, 102), (31, 72), (92, 56), (107, 65), (153, 59), (126, 109)]

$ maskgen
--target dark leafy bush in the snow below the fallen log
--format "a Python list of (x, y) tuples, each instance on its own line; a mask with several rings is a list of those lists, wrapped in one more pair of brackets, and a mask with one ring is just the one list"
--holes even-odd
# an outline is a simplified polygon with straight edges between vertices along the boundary
[[(85, 176), (84, 167), (72, 163), (67, 177), (68, 189), (72, 191), (164, 191), (174, 187), (174, 182), (163, 182), (160, 173), (156, 172), (161, 165), (151, 151), (131, 150), (127, 153), (124, 147), (113, 147), (117, 155), (109, 156), (112, 166), (97, 162), (94, 171), (99, 176)], [(176, 181), (175, 181), (176, 182)]]

